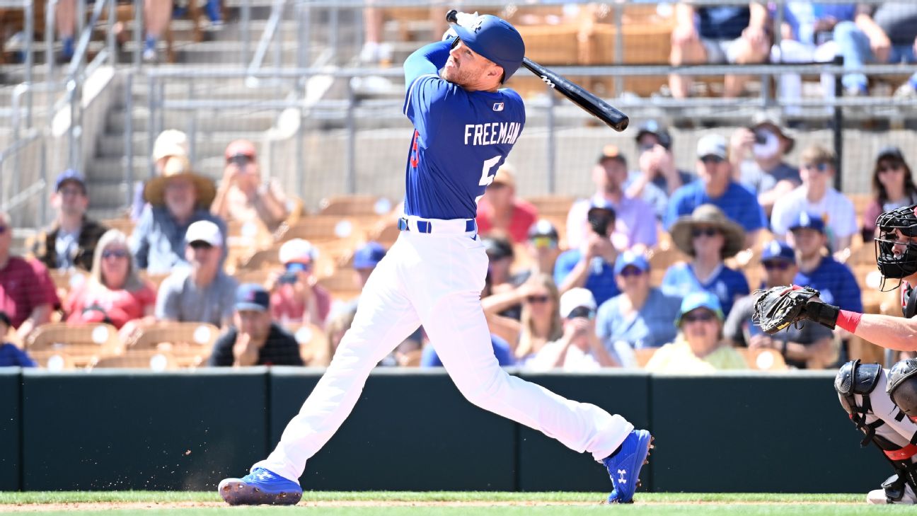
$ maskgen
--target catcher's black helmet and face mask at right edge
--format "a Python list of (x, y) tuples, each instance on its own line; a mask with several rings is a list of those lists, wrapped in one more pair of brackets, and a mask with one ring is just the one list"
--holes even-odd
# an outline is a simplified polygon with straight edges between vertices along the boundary
[[(876, 227), (876, 264), (882, 273), (885, 290), (885, 279), (900, 279), (917, 273), (917, 242), (906, 243), (898, 241), (895, 230), (900, 230), (906, 237), (917, 237), (917, 205), (892, 209), (878, 216)], [(904, 245), (904, 252), (895, 254), (895, 244)], [(900, 282), (899, 282), (900, 286)], [(895, 286), (894, 288), (897, 288)]]

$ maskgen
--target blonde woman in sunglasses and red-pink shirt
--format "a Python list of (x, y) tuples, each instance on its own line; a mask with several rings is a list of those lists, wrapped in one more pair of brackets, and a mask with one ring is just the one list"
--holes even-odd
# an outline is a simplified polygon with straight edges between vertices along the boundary
[(117, 329), (130, 320), (151, 322), (155, 308), (155, 287), (137, 275), (127, 236), (119, 230), (107, 230), (99, 239), (89, 279), (63, 305), (67, 322), (107, 322)]

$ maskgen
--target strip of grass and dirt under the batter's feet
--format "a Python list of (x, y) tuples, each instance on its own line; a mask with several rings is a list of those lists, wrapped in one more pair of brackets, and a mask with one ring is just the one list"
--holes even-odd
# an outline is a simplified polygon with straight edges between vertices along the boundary
[[(204, 516), (215, 514), (277, 514), (278, 511), (309, 511), (329, 516), (580, 516), (624, 511), (640, 516), (840, 516), (874, 515), (877, 512), (911, 512), (907, 506), (867, 506), (864, 495), (855, 494), (768, 494), (768, 493), (637, 493), (634, 505), (605, 506), (605, 493), (491, 493), (491, 492), (321, 492), (307, 491), (297, 507), (234, 508), (219, 505), (213, 492), (87, 491), (87, 492), (0, 492), (0, 512), (28, 509), (28, 514), (79, 516), (136, 514)], [(315, 507), (315, 502), (342, 502), (343, 506)], [(176, 507), (182, 502), (210, 502), (212, 507)], [(443, 505), (442, 503), (447, 503)], [(71, 506), (42, 510), (40, 504), (102, 503), (105, 507)], [(119, 503), (138, 504), (118, 508)], [(467, 505), (455, 505), (467, 503)], [(488, 505), (488, 504), (494, 505)], [(552, 503), (557, 505), (544, 505)], [(352, 504), (352, 505), (348, 505)], [(437, 505), (438, 504), (438, 505)], [(510, 505), (516, 504), (516, 505)], [(542, 504), (542, 505), (538, 505)], [(565, 505), (568, 504), (568, 505)], [(39, 506), (35, 506), (39, 505)], [(6, 507), (5, 507), (6, 506)], [(30, 507), (21, 507), (30, 506)]]

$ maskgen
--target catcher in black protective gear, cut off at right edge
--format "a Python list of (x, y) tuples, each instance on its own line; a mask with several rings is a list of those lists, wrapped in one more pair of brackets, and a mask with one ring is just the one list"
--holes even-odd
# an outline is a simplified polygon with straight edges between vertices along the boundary
[[(775, 286), (756, 291), (755, 320), (770, 334), (790, 324), (812, 320), (832, 330), (840, 327), (868, 342), (900, 351), (917, 350), (917, 205), (897, 208), (876, 220), (876, 263), (882, 287), (889, 280), (901, 286), (904, 318), (862, 314), (825, 303), (813, 288)], [(856, 428), (866, 434), (862, 445), (874, 443), (895, 471), (881, 489), (870, 491), (868, 503), (917, 503), (917, 360), (907, 359), (890, 370), (878, 364), (843, 365), (834, 379), (841, 405)]]

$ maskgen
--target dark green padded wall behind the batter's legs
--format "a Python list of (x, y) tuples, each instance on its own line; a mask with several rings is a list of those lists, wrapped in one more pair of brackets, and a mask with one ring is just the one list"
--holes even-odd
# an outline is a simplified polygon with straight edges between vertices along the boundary
[[(320, 370), (90, 374), (0, 369), (0, 490), (214, 489), (268, 454)], [(890, 469), (833, 372), (527, 374), (657, 437), (656, 491), (866, 492)], [(472, 406), (439, 370), (377, 370), (310, 461), (323, 490), (609, 490), (602, 466)]]

